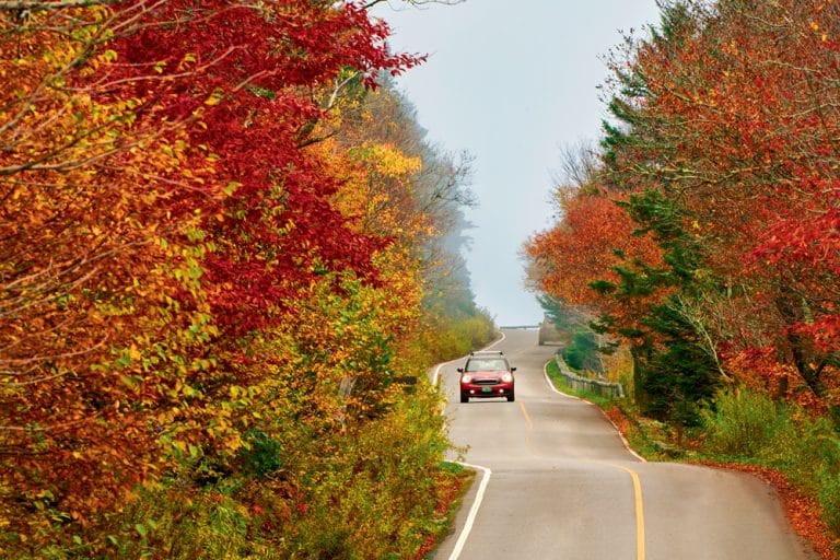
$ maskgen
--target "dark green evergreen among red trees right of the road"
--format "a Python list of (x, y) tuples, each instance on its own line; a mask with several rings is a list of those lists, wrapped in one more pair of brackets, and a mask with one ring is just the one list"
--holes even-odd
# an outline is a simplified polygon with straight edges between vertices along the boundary
[(639, 234), (653, 234), (664, 252), (664, 266), (626, 261), (615, 268), (617, 282), (594, 282), (593, 289), (628, 305), (638, 305), (665, 290), (676, 293), (661, 303), (642, 303), (642, 314), (633, 323), (607, 315), (596, 329), (615, 331), (634, 341), (634, 385), (645, 413), (679, 425), (695, 425), (699, 406), (719, 386), (720, 372), (682, 298), (691, 300), (716, 287), (702, 270), (702, 248), (686, 232), (687, 213), (677, 200), (648, 189), (630, 196), (621, 206), (639, 224)]

